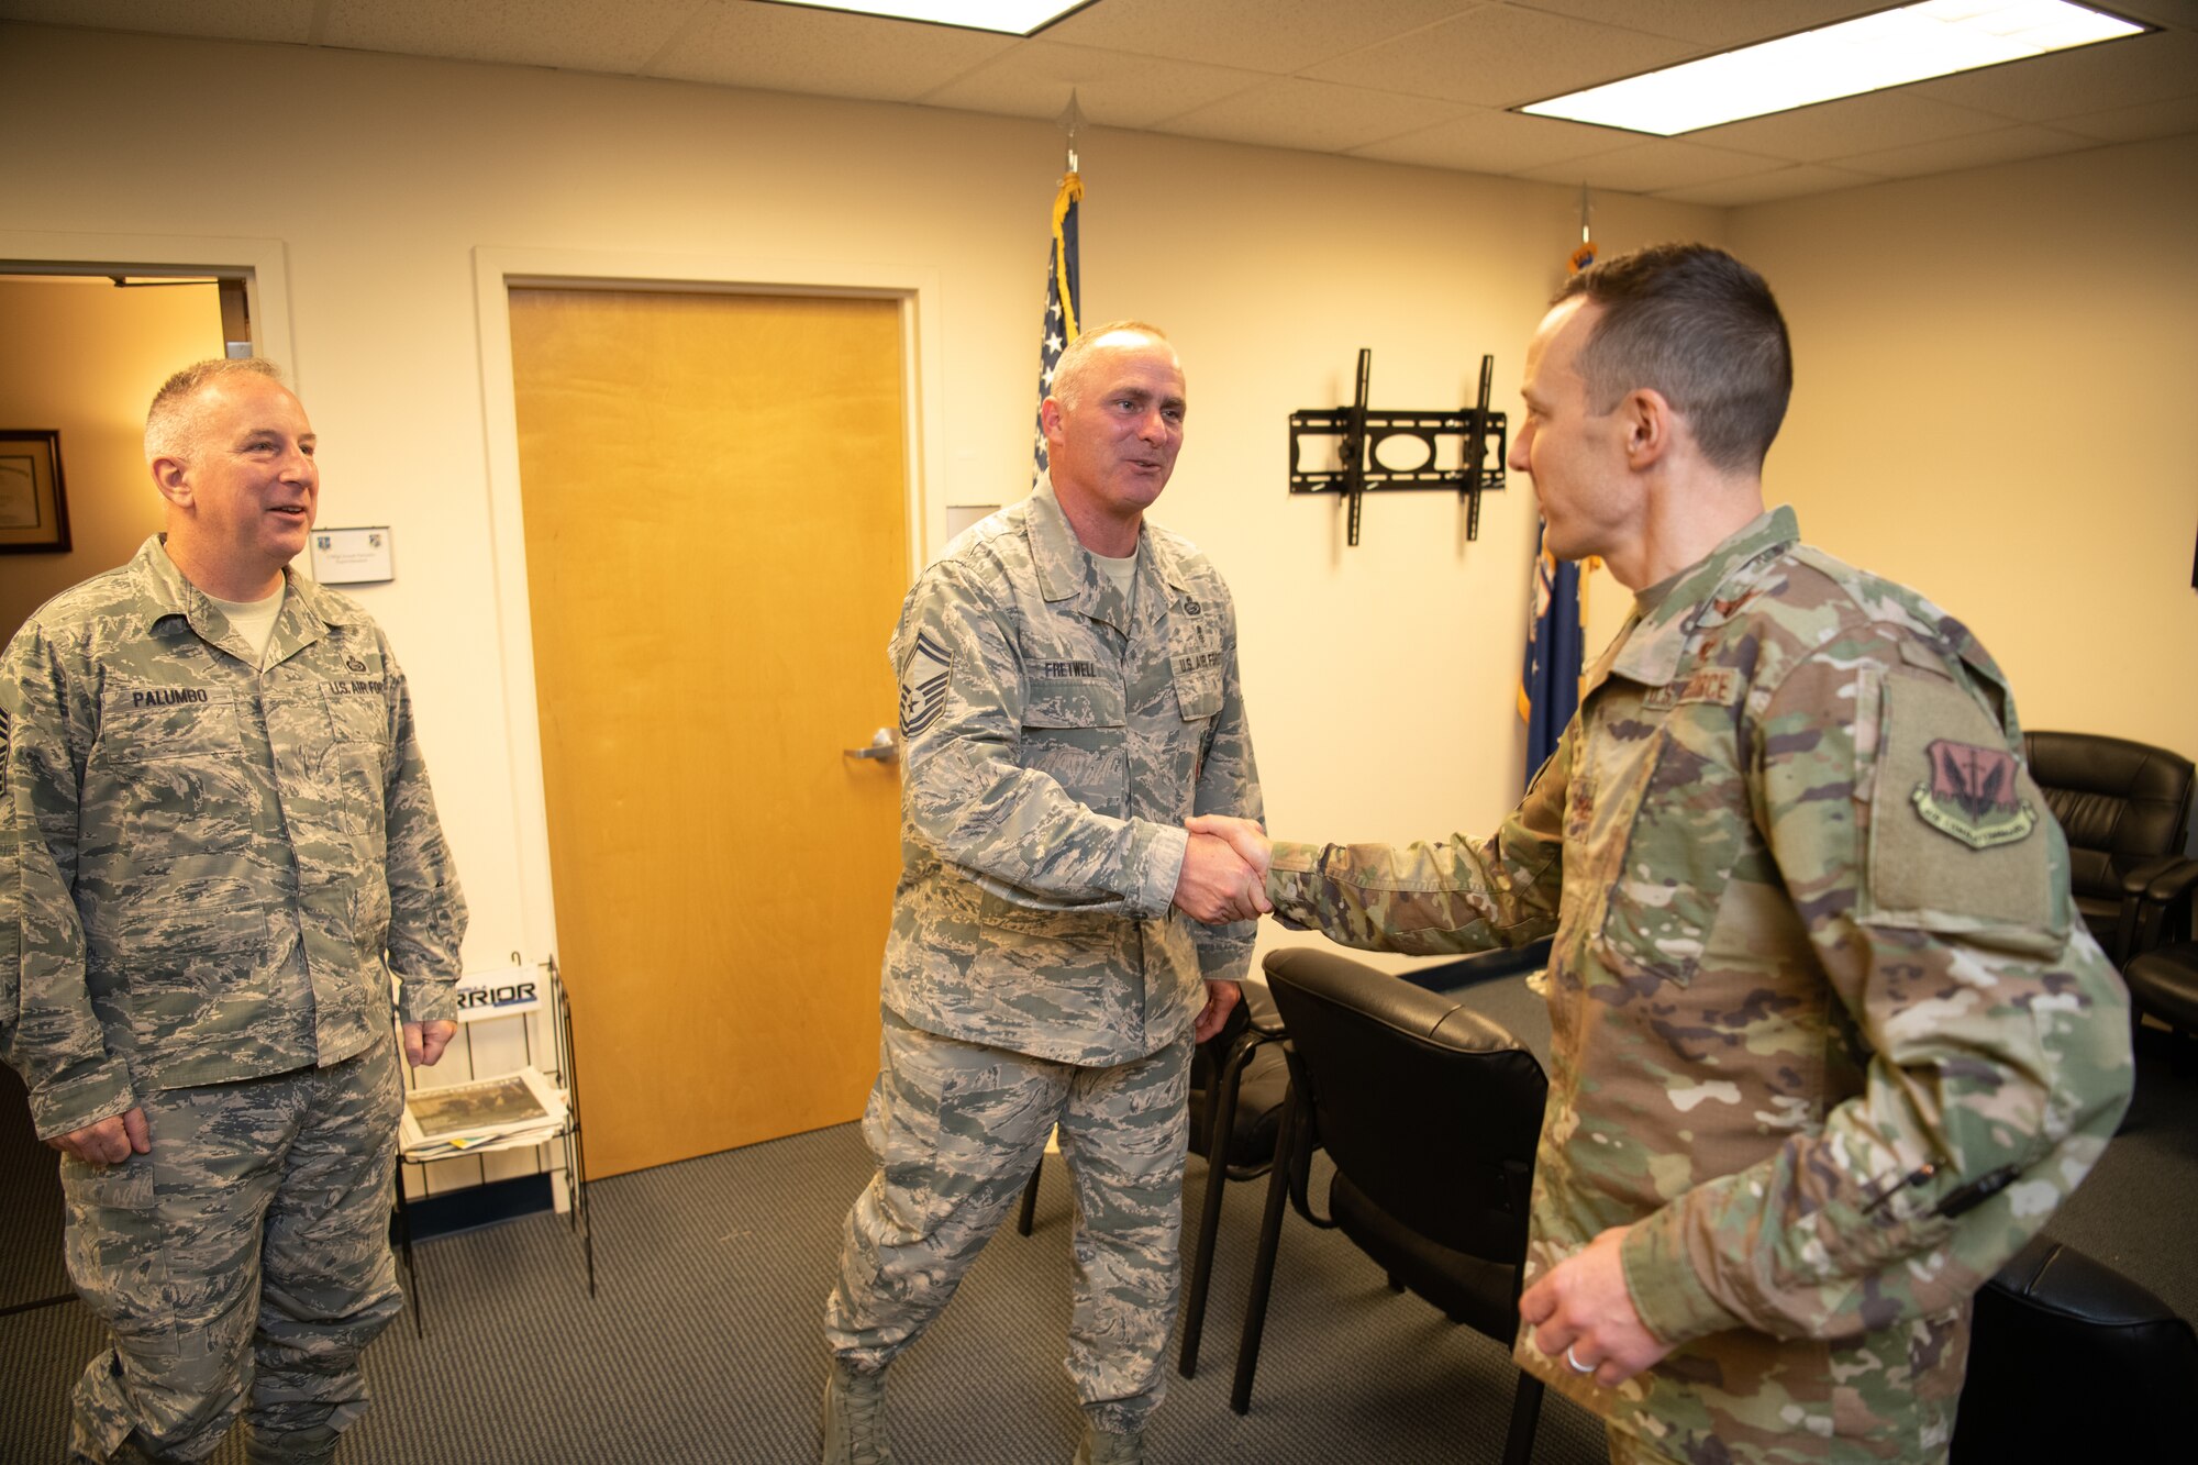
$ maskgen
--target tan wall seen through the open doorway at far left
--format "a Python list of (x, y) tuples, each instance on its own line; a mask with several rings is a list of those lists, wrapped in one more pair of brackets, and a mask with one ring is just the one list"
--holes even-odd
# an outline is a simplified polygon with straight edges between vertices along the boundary
[(160, 528), (145, 407), (169, 372), (222, 354), (211, 284), (0, 279), (0, 427), (59, 429), (66, 554), (0, 554), (0, 645), (40, 605), (123, 563)]

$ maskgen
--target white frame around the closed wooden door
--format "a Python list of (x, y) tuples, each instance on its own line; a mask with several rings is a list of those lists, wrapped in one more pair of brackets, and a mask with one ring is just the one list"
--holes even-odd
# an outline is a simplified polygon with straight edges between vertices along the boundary
[[(550, 882), (550, 803), (543, 792), (541, 713), (534, 702), (534, 620), (528, 598), (525, 508), (519, 493), (519, 411), (512, 387), (514, 286), (563, 290), (690, 290), (701, 295), (853, 295), (901, 306), (901, 403), (908, 442), (908, 574), (932, 539), (925, 484), (945, 482), (939, 409), (939, 275), (914, 266), (651, 255), (640, 251), (475, 246), (473, 295), (481, 341), (488, 442), (488, 519), (497, 568), (497, 640), (503, 662), (506, 746), (519, 823), (521, 930), (532, 952), (556, 950)], [(829, 464), (826, 464), (829, 471)], [(736, 528), (736, 526), (732, 526)], [(884, 627), (879, 627), (884, 636)], [(539, 955), (534, 959), (541, 959)]]

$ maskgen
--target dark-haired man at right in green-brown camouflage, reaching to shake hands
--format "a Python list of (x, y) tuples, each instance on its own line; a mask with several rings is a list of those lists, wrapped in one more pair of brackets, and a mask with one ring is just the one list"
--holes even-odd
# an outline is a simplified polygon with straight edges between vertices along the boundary
[(2132, 1080), (1998, 667), (1763, 513), (1789, 385), (1732, 257), (1578, 275), (1512, 466), (1633, 616), (1495, 838), (1275, 842), (1264, 891), (1363, 948), (1554, 928), (1517, 1359), (1620, 1463), (1945, 1458), (1969, 1298)]

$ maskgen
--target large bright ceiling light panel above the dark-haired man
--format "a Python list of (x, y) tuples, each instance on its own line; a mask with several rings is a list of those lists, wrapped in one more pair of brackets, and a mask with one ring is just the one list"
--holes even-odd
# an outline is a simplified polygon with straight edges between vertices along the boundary
[(1675, 136), (2145, 29), (2068, 0), (1928, 0), (1517, 110)]

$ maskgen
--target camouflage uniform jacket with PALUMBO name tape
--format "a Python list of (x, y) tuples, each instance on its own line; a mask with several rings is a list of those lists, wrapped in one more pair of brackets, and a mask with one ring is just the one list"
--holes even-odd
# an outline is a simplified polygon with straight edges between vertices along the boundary
[(264, 669), (152, 537), (0, 660), (0, 1056), (40, 1135), (455, 1016), (466, 902), (404, 673), (290, 574)]

